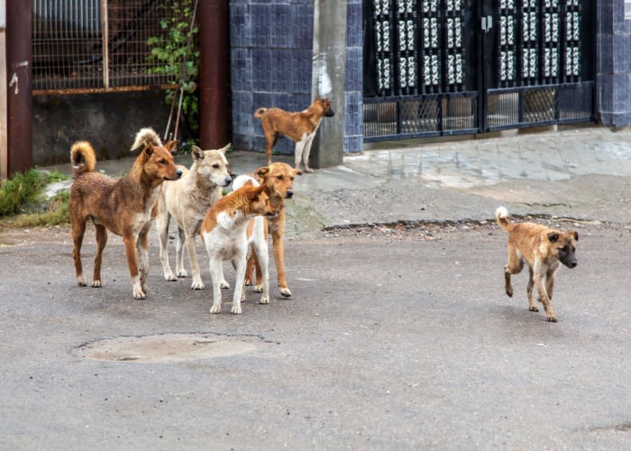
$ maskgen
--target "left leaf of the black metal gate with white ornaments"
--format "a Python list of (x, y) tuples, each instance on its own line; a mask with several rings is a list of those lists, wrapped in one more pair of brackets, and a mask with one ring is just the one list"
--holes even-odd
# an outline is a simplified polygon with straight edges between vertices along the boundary
[[(364, 91), (364, 139), (474, 133), (476, 32), (467, 0), (364, 2), (374, 83)], [(468, 34), (467, 34), (468, 33)]]

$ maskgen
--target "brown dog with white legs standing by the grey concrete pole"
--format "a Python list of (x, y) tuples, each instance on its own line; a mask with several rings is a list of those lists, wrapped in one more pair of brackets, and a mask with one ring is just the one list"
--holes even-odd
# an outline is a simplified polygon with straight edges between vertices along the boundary
[(331, 100), (316, 98), (306, 110), (288, 112), (280, 108), (259, 108), (254, 117), (261, 119), (261, 127), (265, 135), (265, 156), (271, 164), (271, 150), (283, 133), (296, 143), (294, 161), (296, 169), (300, 169), (300, 161), (305, 165), (305, 172), (313, 172), (309, 168), (309, 154), (314, 141), (315, 132), (323, 117), (332, 117)]

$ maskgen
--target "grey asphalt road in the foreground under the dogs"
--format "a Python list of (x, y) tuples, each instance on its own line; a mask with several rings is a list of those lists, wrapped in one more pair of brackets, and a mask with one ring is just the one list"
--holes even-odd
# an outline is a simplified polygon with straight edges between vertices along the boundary
[[(288, 238), (294, 296), (274, 287), (259, 305), (248, 290), (241, 316), (229, 303), (208, 313), (201, 247), (206, 290), (164, 281), (152, 239), (148, 297), (133, 300), (118, 237), (93, 289), (77, 286), (67, 229), (5, 230), (0, 448), (629, 449), (629, 232), (560, 226), (580, 241), (557, 280), (558, 323), (528, 311), (526, 273), (504, 294), (494, 224)], [(169, 348), (185, 334), (224, 347)], [(87, 356), (99, 340), (152, 336), (156, 347)]]

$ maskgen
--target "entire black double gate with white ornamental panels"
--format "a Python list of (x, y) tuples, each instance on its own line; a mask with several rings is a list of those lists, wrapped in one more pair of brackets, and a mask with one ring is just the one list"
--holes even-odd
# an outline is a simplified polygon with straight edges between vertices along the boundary
[(364, 0), (365, 141), (593, 120), (594, 10)]

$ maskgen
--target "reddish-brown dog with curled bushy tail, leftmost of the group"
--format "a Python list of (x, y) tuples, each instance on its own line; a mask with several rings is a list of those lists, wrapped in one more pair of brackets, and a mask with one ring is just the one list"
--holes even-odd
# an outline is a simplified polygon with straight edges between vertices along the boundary
[(164, 180), (182, 175), (173, 163), (171, 141), (164, 146), (151, 128), (136, 134), (132, 150), (142, 146), (127, 177), (114, 180), (95, 172), (96, 153), (90, 143), (79, 141), (70, 149), (75, 181), (70, 188), (69, 214), (74, 242), (73, 256), (79, 286), (86, 286), (81, 266), (81, 244), (86, 223), (96, 228), (96, 257), (93, 287), (101, 287), (101, 261), (107, 243), (107, 230), (123, 237), (127, 265), (132, 276), (133, 299), (144, 299), (149, 255), (147, 234), (156, 214), (155, 204)]

